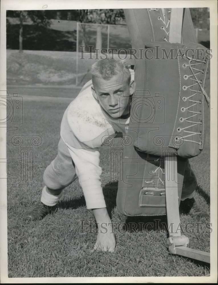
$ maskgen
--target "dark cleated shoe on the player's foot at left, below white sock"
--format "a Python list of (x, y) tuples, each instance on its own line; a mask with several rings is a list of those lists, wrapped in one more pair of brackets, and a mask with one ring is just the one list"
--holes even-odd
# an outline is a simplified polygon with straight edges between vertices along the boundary
[(24, 213), (26, 220), (41, 220), (45, 215), (52, 212), (52, 207), (43, 204), (42, 202), (36, 203), (30, 210)]

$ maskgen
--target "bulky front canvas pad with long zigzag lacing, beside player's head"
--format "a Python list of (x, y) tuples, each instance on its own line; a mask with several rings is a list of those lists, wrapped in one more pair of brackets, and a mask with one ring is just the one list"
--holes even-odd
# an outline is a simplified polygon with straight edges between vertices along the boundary
[(194, 43), (150, 42), (145, 51), (147, 58), (135, 67), (130, 119), (138, 122), (135, 147), (156, 156), (163, 148), (183, 158), (200, 154), (209, 112), (206, 49)]

